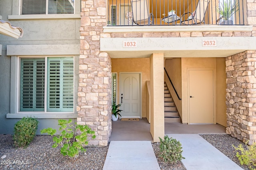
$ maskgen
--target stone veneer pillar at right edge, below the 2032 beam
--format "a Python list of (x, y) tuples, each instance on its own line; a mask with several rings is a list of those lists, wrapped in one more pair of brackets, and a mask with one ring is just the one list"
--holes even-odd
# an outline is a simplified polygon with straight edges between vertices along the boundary
[(256, 51), (226, 57), (226, 133), (256, 141)]

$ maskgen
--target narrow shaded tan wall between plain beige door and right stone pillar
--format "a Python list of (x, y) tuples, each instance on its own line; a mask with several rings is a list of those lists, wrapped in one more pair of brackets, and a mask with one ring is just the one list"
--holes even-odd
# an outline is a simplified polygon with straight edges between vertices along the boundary
[(227, 127), (226, 59), (216, 58), (216, 123)]

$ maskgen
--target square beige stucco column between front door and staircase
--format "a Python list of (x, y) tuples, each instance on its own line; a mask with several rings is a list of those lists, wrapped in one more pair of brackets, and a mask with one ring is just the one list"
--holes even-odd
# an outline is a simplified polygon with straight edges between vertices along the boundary
[(164, 54), (150, 57), (150, 133), (153, 142), (164, 137)]

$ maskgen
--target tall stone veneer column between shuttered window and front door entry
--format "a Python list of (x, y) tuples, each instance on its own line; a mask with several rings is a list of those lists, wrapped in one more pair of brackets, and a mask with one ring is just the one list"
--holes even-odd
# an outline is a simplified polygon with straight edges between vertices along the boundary
[(89, 146), (106, 146), (111, 133), (111, 60), (100, 52), (100, 33), (106, 25), (105, 0), (81, 0), (77, 123), (88, 125), (96, 139)]

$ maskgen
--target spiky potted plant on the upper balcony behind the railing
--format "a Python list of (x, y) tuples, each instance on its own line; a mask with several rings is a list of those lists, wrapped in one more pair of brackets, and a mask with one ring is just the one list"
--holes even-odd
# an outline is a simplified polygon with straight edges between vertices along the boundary
[(220, 14), (217, 22), (223, 19), (221, 25), (233, 25), (232, 15), (238, 11), (238, 3), (232, 2), (232, 0), (223, 0), (216, 10)]

